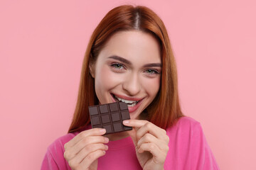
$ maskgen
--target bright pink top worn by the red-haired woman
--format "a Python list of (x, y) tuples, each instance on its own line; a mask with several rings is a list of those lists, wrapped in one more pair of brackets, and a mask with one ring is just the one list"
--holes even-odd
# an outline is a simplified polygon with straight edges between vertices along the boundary
[[(180, 118), (176, 125), (168, 128), (166, 132), (170, 141), (164, 169), (219, 169), (201, 125), (196, 120)], [(41, 169), (70, 169), (63, 157), (63, 146), (78, 133), (69, 133), (55, 140), (48, 147)], [(142, 169), (137, 161), (131, 137), (110, 141), (107, 145), (109, 149), (106, 154), (98, 159), (98, 169)]]

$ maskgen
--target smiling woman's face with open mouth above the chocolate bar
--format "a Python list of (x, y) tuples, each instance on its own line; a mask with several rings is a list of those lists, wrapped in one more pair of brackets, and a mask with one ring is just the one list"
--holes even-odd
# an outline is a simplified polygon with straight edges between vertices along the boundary
[(139, 30), (117, 32), (90, 68), (100, 104), (123, 101), (131, 119), (137, 119), (159, 91), (159, 43)]

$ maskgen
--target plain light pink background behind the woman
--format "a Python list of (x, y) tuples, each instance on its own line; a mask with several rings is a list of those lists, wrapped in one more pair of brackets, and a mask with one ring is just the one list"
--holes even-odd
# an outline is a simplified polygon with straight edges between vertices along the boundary
[(201, 122), (220, 169), (256, 169), (254, 0), (1, 0), (1, 169), (40, 169), (65, 135), (92, 30), (121, 4), (166, 24), (183, 113)]

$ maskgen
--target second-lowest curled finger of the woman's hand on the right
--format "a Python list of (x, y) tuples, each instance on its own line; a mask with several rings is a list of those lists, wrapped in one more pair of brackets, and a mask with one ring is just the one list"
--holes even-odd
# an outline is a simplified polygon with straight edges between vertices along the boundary
[(163, 150), (163, 151), (168, 151), (169, 147), (168, 145), (166, 145), (165, 142), (157, 139), (155, 136), (151, 135), (150, 133), (146, 133), (146, 135), (144, 135), (139, 141), (138, 141), (138, 148), (144, 144), (144, 143), (154, 143), (157, 147), (159, 147), (159, 149)]

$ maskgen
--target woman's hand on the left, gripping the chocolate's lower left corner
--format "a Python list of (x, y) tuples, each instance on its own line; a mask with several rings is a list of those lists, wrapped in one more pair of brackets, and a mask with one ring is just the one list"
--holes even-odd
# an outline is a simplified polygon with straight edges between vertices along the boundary
[(64, 145), (64, 157), (71, 169), (97, 169), (97, 159), (108, 149), (105, 143), (109, 140), (102, 136), (105, 132), (100, 128), (85, 130)]

